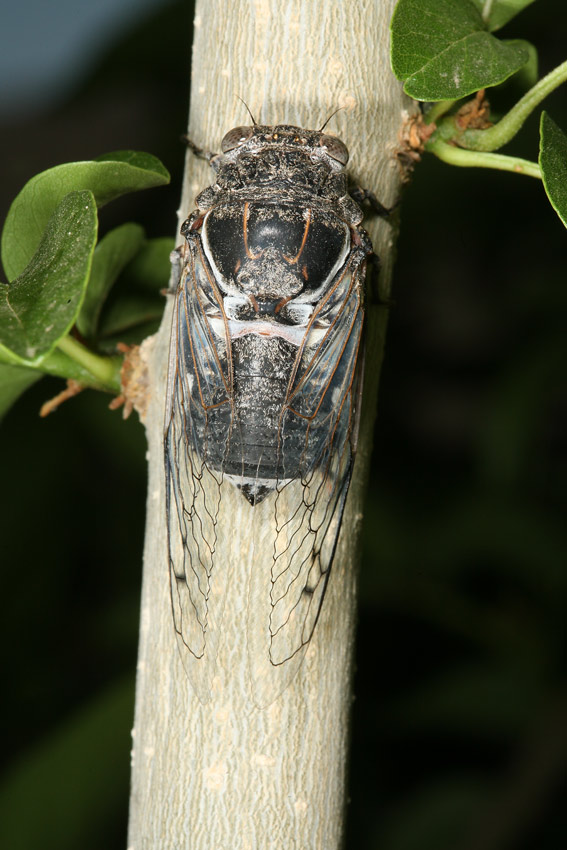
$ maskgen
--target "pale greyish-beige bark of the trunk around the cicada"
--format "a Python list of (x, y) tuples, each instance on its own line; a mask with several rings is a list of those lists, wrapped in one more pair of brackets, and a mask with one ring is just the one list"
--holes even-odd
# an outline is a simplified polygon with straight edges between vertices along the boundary
[[(189, 135), (208, 149), (249, 123), (320, 127), (347, 144), (350, 173), (385, 204), (398, 195), (393, 161), (402, 121), (389, 70), (394, 0), (207, 0), (197, 3)], [(180, 221), (212, 182), (189, 155)], [(366, 225), (388, 291), (392, 225)], [(171, 299), (170, 299), (171, 301)], [(169, 600), (164, 511), (163, 420), (171, 304), (150, 358), (147, 416), (149, 493), (129, 847), (239, 850), (340, 846), (345, 810), (348, 720), (355, 624), (355, 564), (362, 496), (387, 310), (368, 307), (365, 414), (339, 549), (323, 613), (299, 673), (268, 708), (249, 684), (249, 578), (263, 563), (273, 521), (269, 500), (251, 508), (223, 485), (217, 561), (228, 576), (213, 698), (195, 696), (177, 649)], [(256, 573), (253, 571), (256, 570)]]

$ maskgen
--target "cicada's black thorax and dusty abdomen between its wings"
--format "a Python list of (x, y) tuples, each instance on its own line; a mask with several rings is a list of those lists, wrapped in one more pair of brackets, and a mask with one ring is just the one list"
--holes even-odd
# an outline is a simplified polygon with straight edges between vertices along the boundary
[[(350, 230), (317, 206), (222, 203), (206, 213), (204, 253), (224, 293), (233, 427), (209, 462), (254, 504), (309, 463), (304, 424), (287, 414), (300, 362), (330, 325), (318, 309), (350, 252)], [(328, 313), (328, 311), (327, 311)]]

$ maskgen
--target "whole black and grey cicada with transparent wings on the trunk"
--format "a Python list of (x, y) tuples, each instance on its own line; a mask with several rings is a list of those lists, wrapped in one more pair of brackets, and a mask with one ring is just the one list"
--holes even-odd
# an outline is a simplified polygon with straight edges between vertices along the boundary
[(256, 511), (269, 500), (273, 539), (255, 564), (271, 579), (266, 645), (251, 665), (265, 705), (299, 668), (333, 564), (356, 449), (372, 246), (340, 139), (254, 124), (230, 130), (209, 158), (216, 180), (181, 229), (169, 355), (171, 601), (206, 702), (226, 601), (214, 591), (221, 490), (237, 488)]

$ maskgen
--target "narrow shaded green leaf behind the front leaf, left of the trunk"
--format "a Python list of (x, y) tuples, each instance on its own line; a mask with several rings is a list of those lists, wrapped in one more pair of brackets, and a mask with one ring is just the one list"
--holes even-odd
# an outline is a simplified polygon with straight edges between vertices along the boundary
[(128, 223), (111, 230), (96, 246), (85, 300), (77, 317), (77, 328), (86, 339), (95, 336), (106, 296), (143, 242), (144, 228)]

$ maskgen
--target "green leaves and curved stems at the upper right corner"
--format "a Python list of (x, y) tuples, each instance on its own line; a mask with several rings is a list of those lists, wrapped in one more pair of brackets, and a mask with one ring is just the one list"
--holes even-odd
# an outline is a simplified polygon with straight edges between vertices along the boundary
[[(542, 178), (551, 205), (567, 224), (567, 136), (549, 115), (541, 114), (538, 163), (493, 153), (567, 79), (563, 62), (537, 81), (536, 48), (522, 39), (494, 35), (532, 2), (399, 0), (391, 22), (391, 64), (404, 91), (428, 104), (419, 152), (425, 148), (453, 165)], [(497, 119), (484, 91), (513, 76), (531, 88)], [(471, 94), (475, 100), (465, 103)]]

